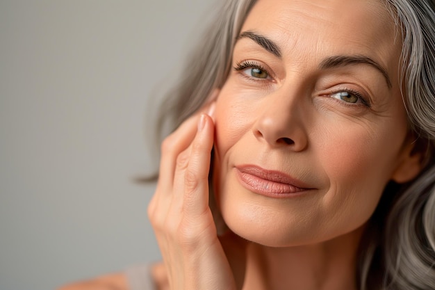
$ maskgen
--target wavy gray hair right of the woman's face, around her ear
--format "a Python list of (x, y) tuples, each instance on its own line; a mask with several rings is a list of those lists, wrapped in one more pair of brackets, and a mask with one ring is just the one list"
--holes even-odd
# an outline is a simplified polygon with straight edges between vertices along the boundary
[(429, 290), (435, 289), (435, 2), (388, 0), (387, 5), (402, 34), (402, 95), (427, 165), (400, 188), (386, 220), (384, 288)]

